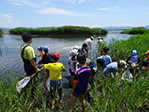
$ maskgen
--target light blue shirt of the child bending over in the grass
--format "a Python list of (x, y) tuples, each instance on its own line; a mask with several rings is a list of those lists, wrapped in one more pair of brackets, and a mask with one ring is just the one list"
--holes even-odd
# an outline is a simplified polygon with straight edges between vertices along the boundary
[(116, 74), (118, 72), (118, 63), (117, 62), (112, 62), (106, 66), (106, 68), (103, 69), (103, 73), (106, 76), (110, 76), (111, 73)]

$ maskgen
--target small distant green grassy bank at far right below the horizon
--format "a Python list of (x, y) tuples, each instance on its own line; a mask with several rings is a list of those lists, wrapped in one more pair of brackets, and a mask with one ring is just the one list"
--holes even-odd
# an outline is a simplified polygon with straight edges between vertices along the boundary
[(145, 34), (145, 33), (149, 33), (149, 29), (146, 29), (144, 27), (138, 27), (138, 28), (132, 28), (132, 29), (125, 30), (121, 33), (125, 33), (125, 34)]

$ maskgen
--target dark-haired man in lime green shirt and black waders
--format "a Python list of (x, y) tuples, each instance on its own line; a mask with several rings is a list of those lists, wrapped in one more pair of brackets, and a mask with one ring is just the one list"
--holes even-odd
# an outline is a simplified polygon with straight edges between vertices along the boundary
[(36, 56), (34, 49), (30, 45), (32, 43), (32, 37), (29, 33), (22, 34), (23, 44), (20, 48), (20, 55), (24, 62), (24, 70), (27, 76), (30, 76), (34, 73), (38, 73), (40, 69), (36, 65)]

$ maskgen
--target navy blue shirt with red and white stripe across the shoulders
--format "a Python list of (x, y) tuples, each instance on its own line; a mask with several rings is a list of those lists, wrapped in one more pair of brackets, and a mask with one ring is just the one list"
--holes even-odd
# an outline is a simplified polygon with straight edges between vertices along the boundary
[(75, 93), (85, 94), (90, 76), (91, 69), (89, 66), (77, 69), (74, 77), (74, 82), (78, 82), (74, 90)]

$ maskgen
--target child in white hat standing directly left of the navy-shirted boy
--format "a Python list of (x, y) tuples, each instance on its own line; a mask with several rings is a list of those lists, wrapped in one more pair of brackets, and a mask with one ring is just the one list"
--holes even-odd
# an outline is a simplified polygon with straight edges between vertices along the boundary
[(76, 50), (71, 50), (70, 51), (70, 58), (68, 60), (68, 65), (69, 65), (69, 72), (70, 72), (70, 77), (69, 77), (69, 87), (71, 88), (73, 85), (73, 79), (74, 75), (77, 69), (77, 51)]

